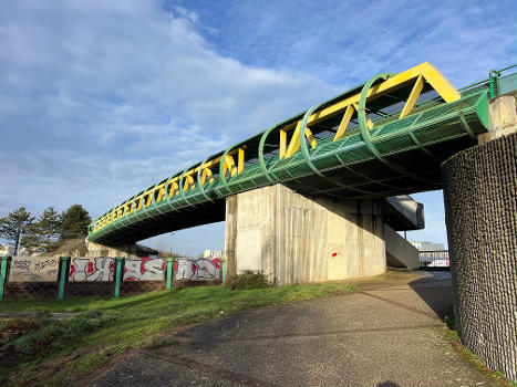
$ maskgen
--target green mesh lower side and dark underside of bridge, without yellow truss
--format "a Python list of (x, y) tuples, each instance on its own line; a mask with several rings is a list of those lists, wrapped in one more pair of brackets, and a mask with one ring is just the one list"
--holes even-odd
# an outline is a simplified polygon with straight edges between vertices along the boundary
[(280, 158), (278, 151), (269, 151), (279, 146), (273, 130), (266, 138), (263, 164), (257, 159), (263, 135), (260, 134), (247, 140), (246, 168), (238, 175), (221, 179), (215, 174), (213, 182), (197, 184), (173, 197), (153, 200), (90, 232), (89, 239), (142, 240), (224, 220), (227, 196), (277, 182), (310, 196), (353, 200), (441, 189), (441, 164), (476, 145), (476, 135), (487, 130), (486, 105), (486, 91), (482, 90), (449, 104), (443, 101), (426, 104), (403, 119), (380, 116), (370, 133), (373, 148), (353, 127), (347, 136), (334, 140), (333, 133), (328, 133), (335, 132), (339, 123), (331, 117), (311, 127), (318, 146), (309, 148), (309, 157), (298, 151)]

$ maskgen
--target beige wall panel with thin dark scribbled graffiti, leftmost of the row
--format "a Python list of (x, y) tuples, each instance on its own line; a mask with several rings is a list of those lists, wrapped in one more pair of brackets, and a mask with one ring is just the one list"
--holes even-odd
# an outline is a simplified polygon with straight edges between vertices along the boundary
[(49, 257), (13, 257), (9, 282), (58, 281), (59, 259)]

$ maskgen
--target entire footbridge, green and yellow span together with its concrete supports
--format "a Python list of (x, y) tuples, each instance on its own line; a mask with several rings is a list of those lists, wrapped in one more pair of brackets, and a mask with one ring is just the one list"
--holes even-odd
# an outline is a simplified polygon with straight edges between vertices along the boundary
[[(517, 74), (456, 90), (428, 63), (379, 74), (111, 208), (117, 244), (226, 220), (228, 275), (276, 284), (414, 265), (409, 194), (441, 189), (462, 343), (517, 378)], [(120, 244), (118, 244), (120, 245)]]

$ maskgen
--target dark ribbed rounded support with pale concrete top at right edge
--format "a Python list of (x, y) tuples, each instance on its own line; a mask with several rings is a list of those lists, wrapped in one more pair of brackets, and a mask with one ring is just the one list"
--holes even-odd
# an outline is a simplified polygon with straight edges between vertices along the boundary
[[(462, 343), (517, 379), (517, 94), (490, 104), (490, 134), (442, 166)], [(513, 134), (511, 134), (513, 133)]]

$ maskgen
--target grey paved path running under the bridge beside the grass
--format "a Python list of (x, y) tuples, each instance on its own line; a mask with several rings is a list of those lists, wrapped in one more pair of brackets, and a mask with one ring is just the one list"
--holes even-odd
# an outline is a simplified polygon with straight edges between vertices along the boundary
[(428, 278), (239, 313), (118, 358), (89, 386), (495, 386), (444, 338)]

